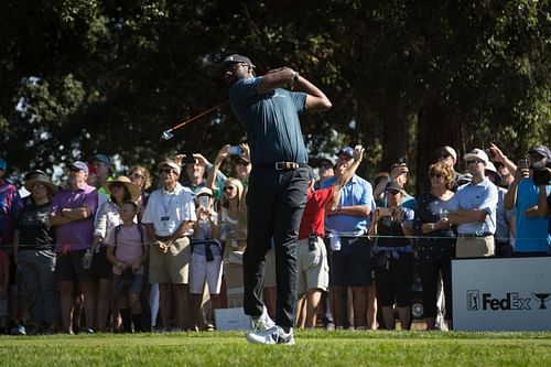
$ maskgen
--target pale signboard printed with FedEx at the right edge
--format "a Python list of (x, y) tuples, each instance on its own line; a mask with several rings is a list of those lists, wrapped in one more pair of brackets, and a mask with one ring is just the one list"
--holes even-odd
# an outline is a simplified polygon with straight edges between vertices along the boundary
[(551, 258), (452, 260), (453, 328), (551, 331)]

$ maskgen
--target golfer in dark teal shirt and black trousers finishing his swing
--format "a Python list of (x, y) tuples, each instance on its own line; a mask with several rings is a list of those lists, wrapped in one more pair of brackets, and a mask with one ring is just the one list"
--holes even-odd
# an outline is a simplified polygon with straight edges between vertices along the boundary
[[(247, 339), (259, 344), (294, 344), (296, 237), (306, 203), (307, 151), (299, 115), (324, 111), (331, 101), (316, 86), (289, 67), (256, 77), (241, 55), (224, 60), (229, 101), (244, 125), (252, 171), (247, 194), (248, 234), (244, 255), (245, 313), (255, 330)], [(283, 89), (294, 85), (290, 91)], [(276, 245), (278, 301), (276, 324), (262, 302), (264, 256)]]

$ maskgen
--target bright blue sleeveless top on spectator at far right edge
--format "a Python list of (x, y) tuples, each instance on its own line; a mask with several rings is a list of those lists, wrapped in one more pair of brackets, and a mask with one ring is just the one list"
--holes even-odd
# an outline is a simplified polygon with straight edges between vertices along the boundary
[[(549, 193), (551, 186), (547, 186)], [(525, 211), (538, 205), (540, 190), (532, 179), (522, 179), (517, 187), (515, 206), (515, 252), (545, 252), (551, 240), (548, 233), (548, 218), (529, 218)]]

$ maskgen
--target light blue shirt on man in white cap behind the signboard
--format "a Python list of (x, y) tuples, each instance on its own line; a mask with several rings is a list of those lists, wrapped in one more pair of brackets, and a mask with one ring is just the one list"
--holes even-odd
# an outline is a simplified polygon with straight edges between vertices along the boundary
[(497, 187), (488, 177), (477, 184), (467, 183), (457, 188), (454, 196), (454, 209), (480, 209), (487, 213), (484, 222), (471, 222), (457, 225), (460, 235), (495, 234), (497, 211)]

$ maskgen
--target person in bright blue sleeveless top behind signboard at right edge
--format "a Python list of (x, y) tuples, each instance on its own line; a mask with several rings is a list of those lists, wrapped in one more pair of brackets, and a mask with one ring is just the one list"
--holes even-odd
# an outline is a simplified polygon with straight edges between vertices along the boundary
[(515, 256), (545, 255), (551, 242), (549, 220), (539, 216), (538, 208), (540, 188), (544, 187), (545, 195), (549, 195), (551, 186), (549, 183), (538, 186), (533, 180), (534, 166), (543, 169), (547, 160), (551, 160), (548, 147), (531, 148), (528, 159), (519, 161), (515, 181), (505, 195), (505, 208), (515, 208)]

